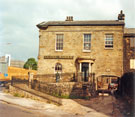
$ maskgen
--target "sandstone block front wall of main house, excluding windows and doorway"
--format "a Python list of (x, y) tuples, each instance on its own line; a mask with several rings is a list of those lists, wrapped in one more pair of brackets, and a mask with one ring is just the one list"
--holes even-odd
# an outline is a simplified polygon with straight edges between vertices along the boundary
[[(64, 35), (63, 51), (55, 51), (56, 34)], [(83, 51), (83, 35), (91, 34), (91, 51)], [(113, 34), (113, 49), (106, 49), (105, 34)], [(44, 59), (44, 56), (73, 56), (73, 59)], [(122, 26), (49, 26), (39, 31), (39, 59), (37, 74), (55, 73), (55, 64), (62, 64), (62, 73), (77, 72), (78, 57), (95, 59), (92, 72), (96, 76), (123, 74)]]

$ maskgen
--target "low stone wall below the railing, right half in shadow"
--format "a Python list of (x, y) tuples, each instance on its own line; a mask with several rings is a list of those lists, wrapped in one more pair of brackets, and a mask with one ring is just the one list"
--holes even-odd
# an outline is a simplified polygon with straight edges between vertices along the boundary
[(95, 87), (91, 83), (63, 82), (44, 83), (33, 81), (32, 89), (62, 98), (82, 98), (91, 97), (96, 94)]

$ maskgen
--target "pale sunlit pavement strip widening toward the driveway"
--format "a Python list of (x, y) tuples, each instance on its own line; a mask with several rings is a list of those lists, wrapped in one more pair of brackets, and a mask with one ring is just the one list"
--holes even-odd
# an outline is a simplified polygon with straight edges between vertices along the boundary
[(53, 117), (54, 115), (55, 117), (108, 117), (92, 108), (82, 106), (71, 99), (63, 99), (63, 105), (58, 106), (51, 103), (32, 100), (30, 98), (14, 97), (9, 93), (0, 91), (0, 101), (32, 109), (36, 112), (44, 113), (49, 117)]

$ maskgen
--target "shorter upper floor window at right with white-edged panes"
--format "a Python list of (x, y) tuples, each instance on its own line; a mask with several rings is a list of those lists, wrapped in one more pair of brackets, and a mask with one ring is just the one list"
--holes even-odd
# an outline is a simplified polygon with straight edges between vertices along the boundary
[(106, 34), (105, 36), (105, 48), (113, 48), (113, 35)]

